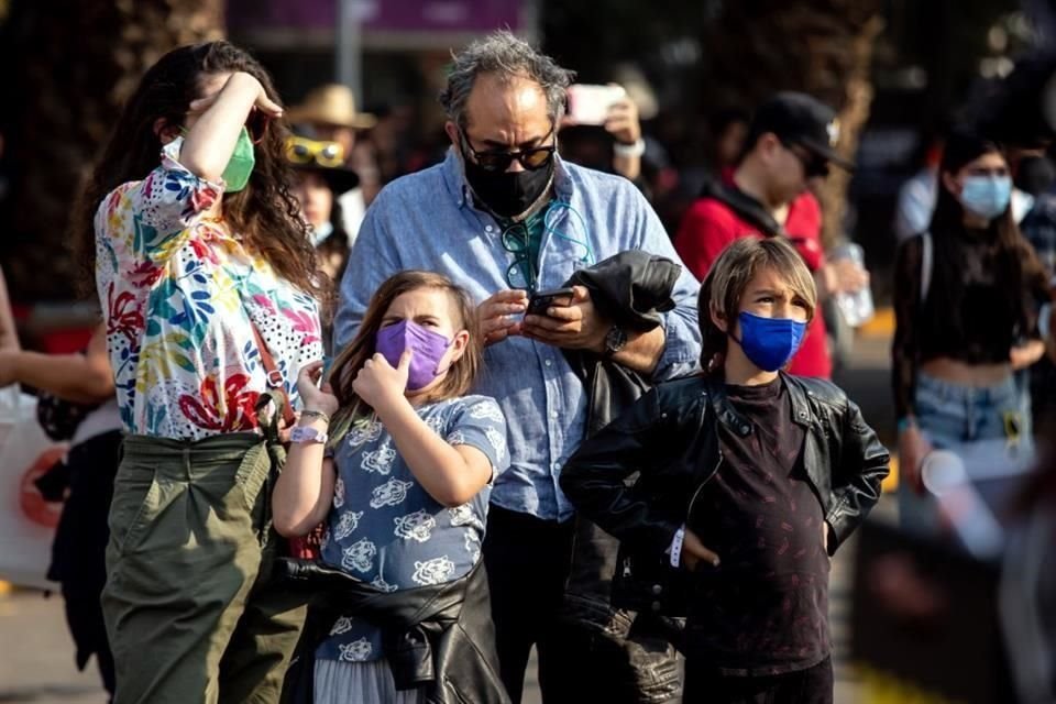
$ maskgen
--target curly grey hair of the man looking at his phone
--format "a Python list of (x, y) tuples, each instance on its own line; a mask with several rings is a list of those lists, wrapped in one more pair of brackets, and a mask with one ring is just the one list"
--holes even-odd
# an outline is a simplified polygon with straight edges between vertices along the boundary
[(547, 111), (553, 123), (558, 124), (564, 114), (565, 89), (575, 72), (561, 68), (510, 32), (493, 32), (459, 53), (452, 52), (451, 56), (454, 63), (448, 74), (448, 87), (440, 94), (440, 105), (448, 119), (460, 128), (468, 127), (465, 103), (481, 74), (494, 74), (504, 82), (517, 77), (529, 78), (538, 82), (546, 95)]

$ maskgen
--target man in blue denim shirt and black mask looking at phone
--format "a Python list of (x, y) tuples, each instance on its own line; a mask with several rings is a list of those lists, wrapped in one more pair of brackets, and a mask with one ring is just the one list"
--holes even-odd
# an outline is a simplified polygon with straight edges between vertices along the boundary
[[(512, 453), (492, 492), (484, 560), (503, 681), (515, 702), (534, 644), (549, 701), (560, 700), (573, 678), (596, 670), (619, 680), (628, 669), (618, 653), (590, 663), (586, 653), (569, 657), (570, 636), (558, 629), (573, 522), (558, 474), (583, 440), (587, 404), (562, 349), (608, 355), (656, 381), (695, 371), (700, 355), (698, 285), (685, 271), (672, 296), (676, 307), (650, 332), (602, 319), (583, 287), (547, 315), (524, 315), (531, 293), (560, 287), (574, 271), (618, 252), (679, 261), (630, 182), (556, 154), (571, 76), (507, 32), (455, 56), (441, 96), (453, 146), (442, 164), (386, 186), (367, 210), (334, 324), (340, 350), (377, 286), (406, 268), (441, 272), (482, 301), (486, 369), (474, 392), (503, 407)], [(670, 698), (626, 680), (634, 691), (622, 701)]]

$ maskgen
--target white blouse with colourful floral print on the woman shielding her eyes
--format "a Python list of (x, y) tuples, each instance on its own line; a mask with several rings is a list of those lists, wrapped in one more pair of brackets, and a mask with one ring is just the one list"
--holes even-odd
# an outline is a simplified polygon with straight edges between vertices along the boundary
[(182, 144), (99, 205), (96, 284), (124, 429), (200, 439), (256, 428), (268, 385), (251, 320), (292, 399), (297, 372), (322, 346), (316, 300), (202, 216), (223, 184), (180, 165)]

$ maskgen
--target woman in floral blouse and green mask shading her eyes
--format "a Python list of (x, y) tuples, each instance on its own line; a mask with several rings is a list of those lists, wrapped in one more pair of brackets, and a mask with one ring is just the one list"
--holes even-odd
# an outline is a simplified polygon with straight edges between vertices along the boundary
[(277, 701), (300, 629), (267, 579), (282, 452), (256, 407), (321, 356), (320, 283), (276, 100), (231, 44), (169, 52), (80, 204), (127, 433), (102, 596), (118, 704)]

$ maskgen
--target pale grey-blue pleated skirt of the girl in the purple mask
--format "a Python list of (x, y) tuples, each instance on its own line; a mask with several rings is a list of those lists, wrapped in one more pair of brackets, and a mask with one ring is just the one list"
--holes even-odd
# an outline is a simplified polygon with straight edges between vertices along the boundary
[(388, 662), (316, 660), (316, 704), (425, 704), (425, 688), (398, 692)]

